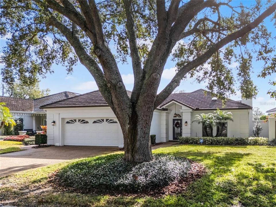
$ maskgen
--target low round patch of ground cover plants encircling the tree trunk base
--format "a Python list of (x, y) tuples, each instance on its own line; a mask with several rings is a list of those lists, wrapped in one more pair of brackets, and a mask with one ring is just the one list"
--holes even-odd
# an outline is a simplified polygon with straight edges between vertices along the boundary
[(191, 168), (185, 158), (154, 154), (153, 160), (131, 164), (122, 154), (85, 158), (69, 164), (57, 173), (65, 186), (84, 191), (94, 189), (137, 192), (153, 190), (179, 181)]

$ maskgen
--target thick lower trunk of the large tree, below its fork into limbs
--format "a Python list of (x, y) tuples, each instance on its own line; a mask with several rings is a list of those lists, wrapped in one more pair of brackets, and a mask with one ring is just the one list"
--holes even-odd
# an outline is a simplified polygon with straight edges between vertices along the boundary
[(124, 136), (124, 160), (127, 162), (140, 163), (152, 160), (152, 148), (150, 142), (150, 125), (153, 116), (147, 110), (133, 109), (131, 118)]

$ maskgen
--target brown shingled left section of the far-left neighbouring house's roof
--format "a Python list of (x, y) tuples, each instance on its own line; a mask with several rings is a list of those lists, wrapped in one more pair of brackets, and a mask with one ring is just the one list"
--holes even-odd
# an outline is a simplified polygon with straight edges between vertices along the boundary
[(32, 112), (34, 109), (31, 99), (0, 96), (0, 102), (4, 102), (10, 111)]

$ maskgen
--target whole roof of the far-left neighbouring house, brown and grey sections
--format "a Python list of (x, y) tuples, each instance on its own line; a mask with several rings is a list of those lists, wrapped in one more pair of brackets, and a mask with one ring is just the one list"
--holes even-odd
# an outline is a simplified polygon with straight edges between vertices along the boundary
[(69, 91), (64, 91), (61, 93), (56, 93), (41, 97), (38, 99), (20, 99), (13, 97), (0, 96), (0, 102), (4, 102), (10, 111), (20, 111), (20, 112), (44, 112), (43, 109), (39, 107), (45, 104), (50, 104), (62, 99), (67, 99), (79, 95), (78, 93), (72, 93)]

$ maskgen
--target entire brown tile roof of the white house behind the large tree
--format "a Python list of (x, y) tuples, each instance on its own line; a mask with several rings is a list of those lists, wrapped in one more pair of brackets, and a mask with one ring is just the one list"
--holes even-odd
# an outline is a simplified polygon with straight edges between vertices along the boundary
[[(128, 95), (131, 95), (131, 91), (128, 91)], [(162, 106), (173, 100), (193, 110), (216, 110), (217, 108), (252, 109), (251, 106), (242, 104), (238, 101), (233, 101), (231, 99), (226, 101), (225, 107), (223, 108), (221, 99), (212, 101), (211, 93), (207, 92), (207, 95), (205, 96), (203, 89), (199, 89), (191, 93), (173, 93), (158, 107), (158, 109), (162, 108)], [(99, 90), (64, 99), (62, 101), (57, 101), (52, 104), (47, 104), (45, 106), (41, 106), (41, 108), (69, 108), (95, 106), (108, 106)]]

